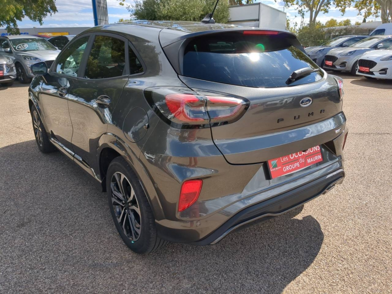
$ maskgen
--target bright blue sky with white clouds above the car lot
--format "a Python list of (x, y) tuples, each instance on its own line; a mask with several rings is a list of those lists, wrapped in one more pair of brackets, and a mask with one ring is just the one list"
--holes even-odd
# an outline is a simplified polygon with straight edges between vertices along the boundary
[[(184, 0), (186, 1), (186, 0)], [(273, 6), (280, 10), (283, 10), (283, 2), (275, 2), (274, 0), (257, 0), (256, 2), (262, 2), (267, 5)], [(126, 4), (132, 4), (132, 0), (126, 0)], [(129, 18), (129, 12), (125, 6), (120, 6), (117, 0), (107, 0), (109, 22), (115, 23), (120, 18)], [(93, 26), (93, 10), (91, 0), (56, 0), (56, 6), (58, 12), (52, 16), (48, 16), (44, 20), (43, 27), (64, 27), (64, 26)], [(296, 7), (290, 7), (285, 9), (288, 18), (291, 23), (295, 22), (299, 25), (301, 18), (296, 12)], [(328, 14), (319, 14), (318, 20), (325, 23), (331, 18), (335, 18), (338, 21), (343, 19), (350, 19), (352, 23), (356, 21), (362, 22), (363, 17), (357, 15), (357, 11), (353, 8), (349, 8), (344, 16), (339, 12), (338, 9), (330, 9)], [(370, 19), (368, 19), (370, 20)], [(374, 18), (373, 18), (374, 20)], [(379, 20), (379, 19), (378, 19)], [(308, 21), (308, 16), (305, 16), (305, 22)], [(34, 23), (29, 19), (24, 19), (19, 22), (19, 27), (33, 27), (40, 26), (38, 23)]]

